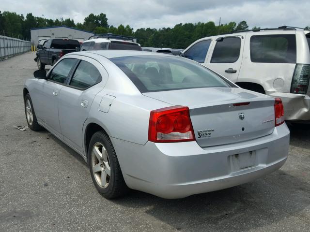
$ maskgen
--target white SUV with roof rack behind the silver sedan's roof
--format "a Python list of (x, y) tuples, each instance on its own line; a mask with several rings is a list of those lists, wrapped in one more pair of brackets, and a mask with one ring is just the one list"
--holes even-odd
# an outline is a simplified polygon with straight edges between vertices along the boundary
[(82, 43), (80, 51), (92, 50), (136, 50), (141, 51), (139, 43), (131, 36), (98, 34), (93, 35)]

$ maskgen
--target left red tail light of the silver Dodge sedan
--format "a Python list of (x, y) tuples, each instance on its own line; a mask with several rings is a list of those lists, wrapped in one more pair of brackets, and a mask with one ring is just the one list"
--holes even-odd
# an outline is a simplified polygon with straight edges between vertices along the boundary
[(171, 106), (151, 111), (149, 141), (155, 143), (195, 141), (188, 107)]

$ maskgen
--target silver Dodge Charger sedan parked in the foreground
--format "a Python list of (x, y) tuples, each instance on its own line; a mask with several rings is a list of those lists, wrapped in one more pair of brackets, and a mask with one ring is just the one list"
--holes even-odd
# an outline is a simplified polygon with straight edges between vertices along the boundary
[(109, 199), (130, 188), (168, 199), (229, 188), (287, 159), (281, 100), (186, 58), (78, 52), (34, 77), (23, 89), (29, 127), (78, 152)]

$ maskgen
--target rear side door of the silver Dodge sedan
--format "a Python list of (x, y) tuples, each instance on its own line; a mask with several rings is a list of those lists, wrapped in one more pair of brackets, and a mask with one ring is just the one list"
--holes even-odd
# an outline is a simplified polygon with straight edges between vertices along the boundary
[(75, 57), (80, 57), (81, 60), (72, 72), (68, 84), (60, 91), (59, 118), (64, 140), (83, 153), (83, 125), (94, 97), (103, 89), (103, 83), (108, 79), (108, 73), (93, 58)]

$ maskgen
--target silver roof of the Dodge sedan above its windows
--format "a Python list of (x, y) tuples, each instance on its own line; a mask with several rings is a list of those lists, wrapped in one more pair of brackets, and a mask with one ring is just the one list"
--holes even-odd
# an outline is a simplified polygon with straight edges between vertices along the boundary
[(146, 51), (134, 51), (134, 50), (92, 50), (69, 53), (70, 55), (100, 55), (105, 58), (117, 58), (117, 57), (134, 57), (134, 56), (168, 56), (175, 57), (164, 53), (146, 52)]

